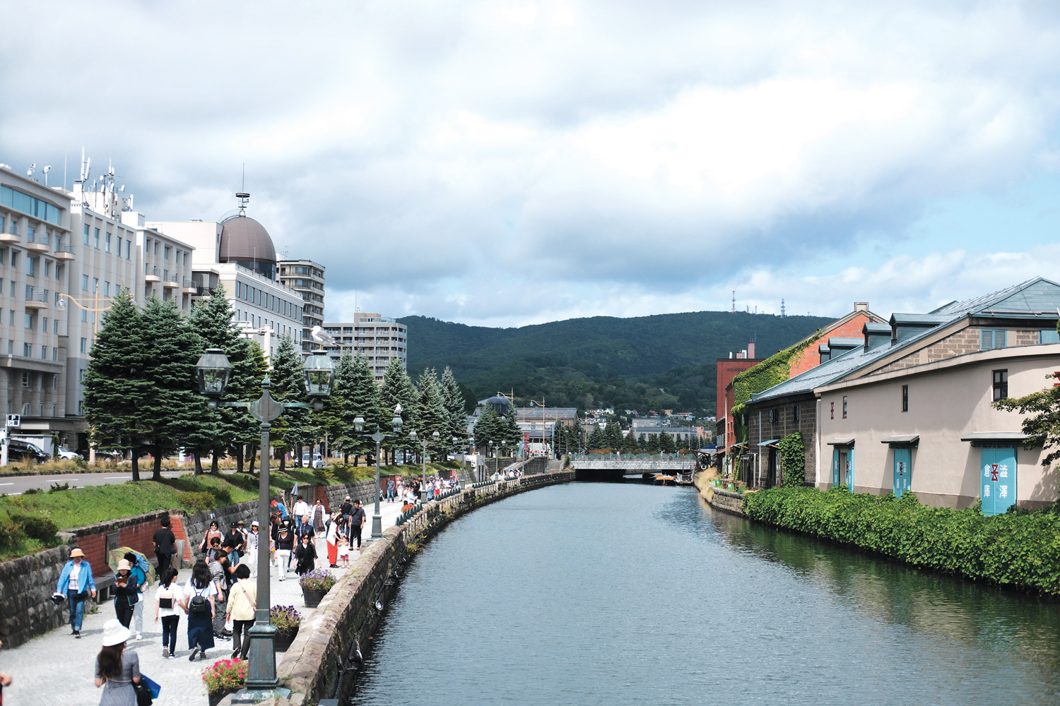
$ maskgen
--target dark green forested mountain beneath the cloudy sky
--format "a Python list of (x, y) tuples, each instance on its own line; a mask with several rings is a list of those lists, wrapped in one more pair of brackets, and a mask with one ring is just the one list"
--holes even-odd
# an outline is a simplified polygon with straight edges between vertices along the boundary
[(713, 414), (714, 360), (757, 342), (765, 358), (833, 321), (695, 311), (570, 319), (519, 328), (405, 316), (408, 368), (449, 365), (472, 396), (515, 388), (516, 401), (616, 411), (674, 409)]

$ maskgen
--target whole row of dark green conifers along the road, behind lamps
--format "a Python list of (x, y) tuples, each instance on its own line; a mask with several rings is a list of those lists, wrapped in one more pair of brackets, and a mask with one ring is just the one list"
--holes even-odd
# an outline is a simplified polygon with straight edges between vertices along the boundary
[[(140, 478), (138, 459), (151, 454), (153, 477), (161, 477), (162, 458), (183, 450), (201, 458), (233, 456), (237, 469), (244, 459), (251, 465), (261, 437), (261, 424), (243, 408), (207, 406), (198, 392), (195, 364), (207, 348), (220, 348), (232, 364), (232, 376), (222, 401), (252, 401), (261, 396), (266, 374), (270, 394), (283, 401), (310, 401), (305, 395), (301, 351), (289, 336), (279, 338), (271, 360), (257, 342), (240, 336), (232, 307), (224, 291), (197, 303), (183, 315), (173, 300), (157, 296), (145, 306), (136, 305), (124, 292), (114, 298), (91, 347), (85, 375), (84, 409), (90, 424), (90, 440), (99, 449), (114, 449), (132, 458), (132, 477)], [(270, 363), (270, 365), (269, 365)], [(462, 448), (466, 439), (464, 397), (452, 370), (441, 377), (426, 369), (413, 384), (400, 359), (391, 358), (383, 384), (360, 355), (343, 351), (335, 368), (335, 381), (323, 409), (287, 409), (271, 422), (270, 446), (280, 455), (325, 443), (349, 460), (374, 455), (375, 443), (366, 434), (379, 430), (392, 434), (391, 418), (402, 406), (403, 428), (383, 443), (393, 461), (394, 452), (419, 454), (420, 441), (428, 441), (432, 456)], [(364, 434), (353, 420), (363, 417)], [(413, 442), (409, 432), (416, 430)], [(439, 433), (439, 440), (432, 438)]]

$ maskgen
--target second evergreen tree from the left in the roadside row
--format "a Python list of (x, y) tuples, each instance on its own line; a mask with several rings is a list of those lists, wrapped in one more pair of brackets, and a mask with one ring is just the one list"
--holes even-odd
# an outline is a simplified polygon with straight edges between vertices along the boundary
[(174, 300), (152, 296), (142, 321), (152, 390), (141, 410), (155, 457), (152, 479), (161, 481), (162, 458), (199, 433), (207, 419), (207, 400), (198, 392), (195, 372), (206, 346)]

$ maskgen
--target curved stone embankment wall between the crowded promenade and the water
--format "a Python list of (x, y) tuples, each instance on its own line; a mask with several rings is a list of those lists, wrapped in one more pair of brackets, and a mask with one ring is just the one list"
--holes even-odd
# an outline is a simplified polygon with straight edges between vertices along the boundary
[[(467, 489), (427, 503), (404, 525), (385, 529), (382, 540), (368, 545), (357, 571), (339, 579), (320, 605), (305, 617), (278, 668), (281, 685), (292, 690), (290, 699), (277, 700), (276, 704), (304, 706), (328, 699), (346, 702), (353, 677), (352, 655), (358, 649), (366, 653), (371, 647), (370, 638), (383, 617), (375, 603), (381, 601), (385, 607), (393, 596), (411, 558), (409, 544), (425, 541), (447, 522), (476, 507), (525, 490), (570, 481), (572, 472), (548, 473)], [(230, 702), (231, 696), (227, 696), (222, 706)]]

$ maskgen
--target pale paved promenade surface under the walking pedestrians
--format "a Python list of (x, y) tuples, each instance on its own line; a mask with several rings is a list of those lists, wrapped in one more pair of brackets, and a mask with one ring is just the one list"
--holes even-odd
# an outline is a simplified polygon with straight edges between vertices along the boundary
[[(365, 507), (368, 523), (363, 537), (371, 535), (373, 506)], [(383, 503), (381, 514), (383, 528), (392, 527), (401, 505)], [(249, 520), (249, 518), (248, 518)], [(356, 551), (350, 555), (351, 567), (356, 565)], [(347, 571), (333, 568), (337, 577)], [(180, 571), (178, 581), (186, 583), (191, 576), (190, 568)], [(273, 605), (295, 605), (302, 612), (303, 621), (311, 611), (302, 608), (302, 591), (298, 585), (298, 576), (287, 575), (286, 581), (278, 581), (276, 568), (271, 574), (271, 602)], [(228, 658), (232, 652), (229, 640), (214, 640), (215, 647), (209, 651), (207, 659), (188, 662), (191, 650), (188, 649), (188, 618), (181, 616), (177, 633), (176, 658), (162, 657), (161, 622), (154, 622), (155, 598), (153, 585), (145, 595), (143, 639), (134, 640), (128, 648), (137, 651), (140, 656), (140, 670), (162, 686), (162, 692), (155, 701), (158, 706), (202, 706), (207, 702), (206, 686), (201, 680), (202, 669), (217, 659)], [(4, 689), (4, 701), (14, 706), (53, 706), (66, 704), (69, 706), (89, 706), (100, 703), (102, 690), (96, 689), (92, 682), (95, 669), (95, 655), (100, 651), (103, 637), (103, 623), (114, 617), (112, 601), (100, 605), (100, 612), (86, 615), (82, 626), (82, 638), (75, 639), (70, 634), (69, 626), (55, 630), (47, 635), (36, 637), (25, 645), (13, 650), (0, 651), (0, 673), (11, 674), (14, 683)], [(279, 660), (283, 653), (278, 653)]]

